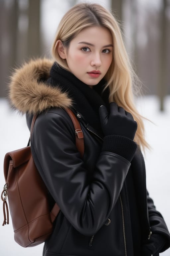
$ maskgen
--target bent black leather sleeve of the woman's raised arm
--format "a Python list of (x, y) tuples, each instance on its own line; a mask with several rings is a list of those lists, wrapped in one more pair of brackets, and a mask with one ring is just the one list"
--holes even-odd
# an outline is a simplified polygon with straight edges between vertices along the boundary
[(130, 162), (112, 152), (101, 152), (89, 183), (74, 133), (64, 110), (43, 113), (34, 126), (32, 154), (65, 217), (80, 233), (92, 235), (102, 227), (116, 204)]

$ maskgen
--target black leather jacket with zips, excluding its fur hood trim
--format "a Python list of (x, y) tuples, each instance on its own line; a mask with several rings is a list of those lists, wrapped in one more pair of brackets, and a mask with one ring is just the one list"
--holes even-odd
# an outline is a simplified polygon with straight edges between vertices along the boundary
[[(51, 109), (41, 114), (33, 130), (33, 158), (61, 209), (43, 255), (132, 256), (126, 193), (130, 162), (111, 152), (101, 153), (102, 138), (83, 118), (79, 121), (85, 143), (83, 159), (75, 146), (72, 121), (64, 110)], [(134, 173), (142, 240), (148, 239), (151, 232), (169, 239), (166, 224), (147, 193), (139, 149), (130, 168)]]

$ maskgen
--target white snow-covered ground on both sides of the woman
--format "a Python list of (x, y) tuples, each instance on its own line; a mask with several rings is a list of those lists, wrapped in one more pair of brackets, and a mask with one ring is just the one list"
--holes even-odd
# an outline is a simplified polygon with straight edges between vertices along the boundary
[[(147, 188), (154, 199), (157, 209), (162, 213), (170, 230), (170, 96), (165, 101), (165, 111), (159, 112), (158, 100), (154, 96), (139, 98), (136, 101), (139, 112), (154, 122), (145, 121), (147, 141), (152, 151), (146, 151)], [(3, 159), (8, 151), (25, 147), (29, 131), (25, 117), (12, 112), (5, 99), (0, 99), (0, 191), (5, 184), (3, 176)], [(2, 202), (1, 202), (2, 207)], [(0, 208), (0, 255), (1, 256), (42, 256), (42, 247), (22, 248), (13, 239), (13, 228), (2, 227), (3, 211)], [(161, 256), (169, 256), (170, 249)]]

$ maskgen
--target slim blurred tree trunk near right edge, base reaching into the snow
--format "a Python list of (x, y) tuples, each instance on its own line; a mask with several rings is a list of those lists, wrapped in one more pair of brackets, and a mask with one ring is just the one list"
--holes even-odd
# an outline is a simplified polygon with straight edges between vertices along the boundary
[(167, 48), (166, 42), (168, 40), (167, 35), (167, 18), (166, 10), (168, 7), (168, 0), (162, 0), (162, 11), (161, 11), (161, 27), (160, 27), (160, 73), (159, 73), (159, 84), (158, 84), (158, 96), (160, 100), (160, 111), (164, 111), (164, 98), (167, 93), (166, 88), (166, 77), (167, 77)]

